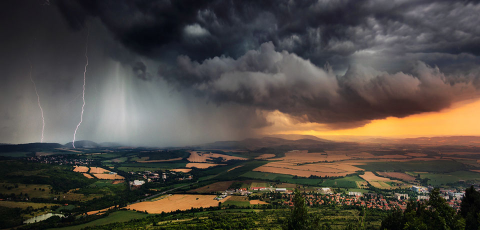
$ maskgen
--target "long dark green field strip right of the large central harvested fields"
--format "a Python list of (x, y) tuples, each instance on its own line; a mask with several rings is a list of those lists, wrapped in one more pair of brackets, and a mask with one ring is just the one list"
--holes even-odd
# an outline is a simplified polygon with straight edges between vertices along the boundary
[(367, 171), (429, 171), (449, 172), (464, 168), (465, 166), (454, 160), (425, 160), (425, 161), (384, 161), (369, 162), (363, 165), (356, 165)]

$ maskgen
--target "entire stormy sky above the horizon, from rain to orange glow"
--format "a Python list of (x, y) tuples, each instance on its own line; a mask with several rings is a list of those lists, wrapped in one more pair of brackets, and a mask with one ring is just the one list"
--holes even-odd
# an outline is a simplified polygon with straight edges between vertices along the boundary
[(71, 141), (80, 119), (76, 140), (149, 146), (480, 135), (478, 13), (468, 0), (2, 2), (0, 142), (41, 140), (38, 100), (44, 142)]

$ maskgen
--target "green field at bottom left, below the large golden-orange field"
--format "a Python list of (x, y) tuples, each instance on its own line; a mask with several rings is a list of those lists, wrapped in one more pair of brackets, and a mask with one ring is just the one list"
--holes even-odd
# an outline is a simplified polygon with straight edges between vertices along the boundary
[(113, 213), (110, 213), (107, 217), (101, 218), (101, 219), (95, 219), (91, 222), (75, 225), (75, 226), (68, 226), (68, 227), (60, 227), (60, 228), (50, 228), (50, 229), (61, 229), (61, 230), (77, 230), (81, 229), (84, 227), (90, 227), (90, 226), (97, 226), (97, 225), (103, 225), (103, 224), (108, 224), (108, 223), (113, 223), (113, 222), (125, 222), (129, 221), (132, 219), (138, 219), (138, 218), (143, 218), (148, 216), (149, 214), (145, 213), (139, 213), (136, 211), (115, 211)]

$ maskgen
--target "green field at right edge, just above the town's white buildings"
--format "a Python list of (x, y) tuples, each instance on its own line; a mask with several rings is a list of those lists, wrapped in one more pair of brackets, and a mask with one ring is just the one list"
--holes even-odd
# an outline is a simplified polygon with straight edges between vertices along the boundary
[(453, 171), (448, 173), (415, 173), (409, 171), (408, 174), (420, 174), (420, 178), (429, 178), (428, 183), (433, 186), (441, 184), (454, 183), (458, 180), (480, 180), (480, 173), (472, 171)]

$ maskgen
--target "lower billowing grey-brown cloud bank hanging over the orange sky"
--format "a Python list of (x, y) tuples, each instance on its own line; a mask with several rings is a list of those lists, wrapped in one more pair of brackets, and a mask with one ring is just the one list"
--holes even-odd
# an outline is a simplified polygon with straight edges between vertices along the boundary
[(411, 71), (390, 74), (352, 65), (344, 75), (335, 76), (330, 66), (319, 68), (296, 54), (275, 51), (268, 42), (238, 59), (223, 56), (199, 63), (179, 56), (173, 72), (163, 77), (218, 104), (278, 109), (300, 121), (333, 128), (438, 111), (478, 96), (472, 83), (445, 76), (437, 67), (417, 62)]

